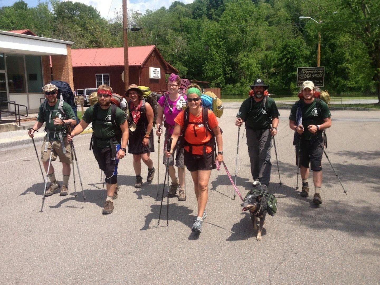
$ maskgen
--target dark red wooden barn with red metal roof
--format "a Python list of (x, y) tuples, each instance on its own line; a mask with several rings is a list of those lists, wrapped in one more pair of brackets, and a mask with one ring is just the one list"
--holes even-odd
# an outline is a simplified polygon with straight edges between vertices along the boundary
[[(108, 84), (123, 94), (123, 47), (72, 49), (74, 89), (96, 88)], [(129, 84), (149, 86), (152, 91), (166, 89), (165, 74), (178, 73), (162, 57), (156, 46), (128, 47)]]

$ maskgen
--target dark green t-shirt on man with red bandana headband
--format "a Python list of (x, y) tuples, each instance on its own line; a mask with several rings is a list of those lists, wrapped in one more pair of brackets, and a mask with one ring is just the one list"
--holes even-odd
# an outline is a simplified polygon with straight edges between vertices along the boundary
[[(84, 112), (82, 119), (86, 123), (92, 122), (92, 114), (95, 106), (98, 106), (98, 104), (91, 106), (86, 110), (86, 112)], [(125, 122), (125, 120), (127, 120), (127, 117), (125, 116), (123, 110), (116, 107), (116, 124), (121, 125)], [(98, 107), (97, 120), (92, 122), (92, 130), (97, 139), (97, 146), (108, 147), (109, 140), (116, 136), (115, 127), (111, 122), (111, 105), (107, 109), (102, 109), (100, 106)], [(116, 142), (120, 144), (121, 141)]]

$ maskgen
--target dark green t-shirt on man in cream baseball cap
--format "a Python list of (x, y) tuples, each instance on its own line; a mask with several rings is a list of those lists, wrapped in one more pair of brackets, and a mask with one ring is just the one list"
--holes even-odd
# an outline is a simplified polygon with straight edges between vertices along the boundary
[[(302, 133), (302, 136), (301, 136), (302, 139), (305, 139), (305, 140), (311, 139), (313, 134), (307, 130), (307, 127), (309, 125), (321, 125), (324, 123), (323, 119), (331, 117), (331, 113), (327, 104), (323, 100), (319, 100), (319, 101), (320, 101), (320, 108), (321, 108), (320, 110), (321, 116), (317, 108), (317, 99), (315, 98), (310, 104), (306, 104), (304, 100), (299, 100), (291, 107), (289, 120), (296, 121), (298, 103), (301, 103), (302, 126), (304, 126), (304, 132)], [(318, 131), (318, 133), (321, 133), (321, 132), (322, 131)]]

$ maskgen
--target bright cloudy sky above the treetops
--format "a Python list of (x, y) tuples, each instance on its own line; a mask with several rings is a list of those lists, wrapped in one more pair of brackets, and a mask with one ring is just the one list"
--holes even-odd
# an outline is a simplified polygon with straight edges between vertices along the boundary
[[(38, 0), (24, 0), (26, 3), (28, 3), (28, 6), (34, 7), (38, 4)], [(43, 2), (44, 0), (41, 0)], [(84, 3), (86, 5), (91, 5), (95, 7), (99, 12), (100, 15), (104, 18), (112, 19), (113, 18), (113, 12), (115, 9), (121, 9), (122, 6), (122, 0), (71, 0), (72, 2), (80, 2)], [(182, 3), (188, 4), (192, 3), (194, 0), (179, 0)], [(13, 3), (16, 2), (14, 0), (0, 0), (0, 7), (1, 6), (11, 6)], [(139, 11), (141, 13), (144, 13), (145, 10), (157, 10), (161, 8), (162, 6), (165, 6), (165, 8), (169, 8), (171, 3), (173, 3), (174, 0), (127, 0), (127, 9), (128, 10), (134, 10)], [(111, 9), (110, 9), (111, 7)], [(108, 14), (109, 11), (109, 14)]]

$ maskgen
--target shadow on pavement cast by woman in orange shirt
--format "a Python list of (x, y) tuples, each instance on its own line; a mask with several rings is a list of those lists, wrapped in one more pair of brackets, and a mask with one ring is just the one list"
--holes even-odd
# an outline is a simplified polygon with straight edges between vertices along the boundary
[[(157, 193), (156, 193), (157, 194)], [(166, 225), (166, 199), (164, 198), (164, 203), (162, 204), (162, 211), (161, 211), (161, 220), (160, 220), (160, 226), (165, 224)], [(171, 221), (175, 222), (181, 222), (184, 225), (187, 225), (189, 228), (194, 223), (194, 220), (196, 219), (195, 215), (192, 214), (193, 210), (190, 210), (186, 206), (181, 206), (176, 203), (170, 203), (169, 202), (169, 225)], [(157, 228), (157, 222), (158, 222), (158, 216), (160, 214), (160, 204), (153, 204), (150, 206), (150, 213), (145, 216), (145, 225), (140, 229), (147, 230), (149, 228)], [(152, 220), (157, 220), (157, 222), (154, 223), (154, 225), (151, 225)]]

